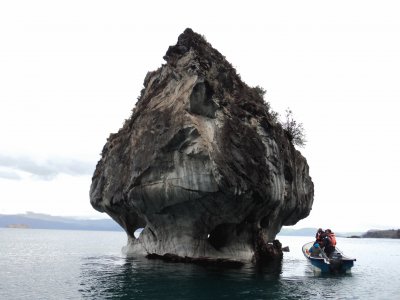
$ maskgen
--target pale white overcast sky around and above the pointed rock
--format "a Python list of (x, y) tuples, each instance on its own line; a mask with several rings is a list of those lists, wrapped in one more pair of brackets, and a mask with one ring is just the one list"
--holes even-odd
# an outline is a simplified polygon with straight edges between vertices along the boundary
[(104, 216), (106, 138), (191, 27), (304, 124), (315, 197), (296, 227), (399, 228), (397, 2), (2, 1), (0, 213)]

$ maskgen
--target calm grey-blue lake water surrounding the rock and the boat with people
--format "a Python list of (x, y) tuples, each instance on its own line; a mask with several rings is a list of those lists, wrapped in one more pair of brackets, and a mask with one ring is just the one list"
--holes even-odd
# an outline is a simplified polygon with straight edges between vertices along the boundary
[(122, 232), (0, 228), (0, 299), (400, 299), (400, 240), (338, 238), (350, 275), (314, 275), (311, 237), (280, 236), (280, 266), (222, 269), (126, 258)]

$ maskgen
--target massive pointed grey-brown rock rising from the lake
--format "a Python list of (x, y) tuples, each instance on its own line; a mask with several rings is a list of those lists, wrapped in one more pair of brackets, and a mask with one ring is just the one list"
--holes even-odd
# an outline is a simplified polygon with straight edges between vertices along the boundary
[(108, 138), (91, 204), (125, 229), (130, 254), (258, 259), (260, 240), (311, 210), (306, 159), (202, 36), (186, 29), (164, 59)]

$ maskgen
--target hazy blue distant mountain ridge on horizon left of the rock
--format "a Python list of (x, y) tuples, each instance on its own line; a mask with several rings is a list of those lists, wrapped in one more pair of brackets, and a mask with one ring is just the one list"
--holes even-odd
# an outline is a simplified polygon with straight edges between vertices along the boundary
[(89, 220), (77, 219), (73, 217), (58, 217), (37, 213), (17, 215), (0, 214), (0, 227), (123, 231), (123, 229), (112, 219)]

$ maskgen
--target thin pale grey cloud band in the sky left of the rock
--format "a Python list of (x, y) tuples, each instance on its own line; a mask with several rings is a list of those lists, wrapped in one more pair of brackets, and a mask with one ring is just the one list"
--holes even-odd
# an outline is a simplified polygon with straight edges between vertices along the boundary
[(36, 160), (32, 157), (13, 157), (0, 154), (0, 177), (6, 179), (21, 179), (18, 172), (29, 173), (44, 180), (51, 180), (58, 174), (82, 176), (93, 174), (95, 163), (69, 158), (50, 158)]

